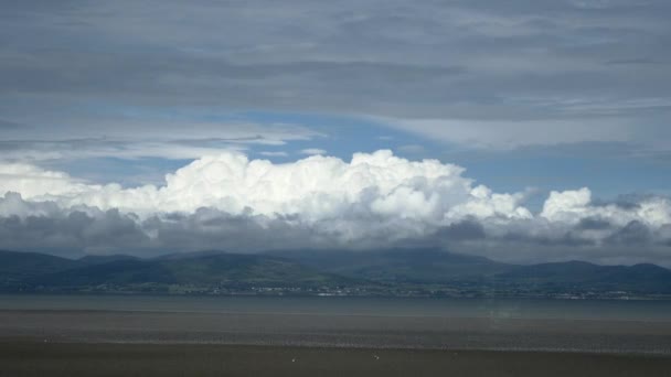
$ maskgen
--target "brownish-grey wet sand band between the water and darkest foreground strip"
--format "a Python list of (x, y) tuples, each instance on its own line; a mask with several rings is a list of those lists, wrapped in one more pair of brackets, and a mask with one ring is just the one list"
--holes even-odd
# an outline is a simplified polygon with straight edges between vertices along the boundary
[(671, 322), (273, 313), (0, 311), (0, 341), (671, 355)]

